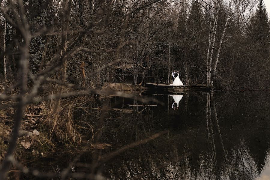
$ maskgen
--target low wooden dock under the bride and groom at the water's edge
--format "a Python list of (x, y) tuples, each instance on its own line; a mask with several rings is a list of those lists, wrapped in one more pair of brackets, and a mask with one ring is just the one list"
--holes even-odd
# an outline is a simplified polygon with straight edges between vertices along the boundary
[(158, 85), (157, 83), (143, 83), (143, 86), (151, 89), (151, 91), (170, 92), (170, 93), (214, 90), (212, 86), (188, 86), (188, 85), (172, 86), (172, 85), (160, 84), (160, 83)]

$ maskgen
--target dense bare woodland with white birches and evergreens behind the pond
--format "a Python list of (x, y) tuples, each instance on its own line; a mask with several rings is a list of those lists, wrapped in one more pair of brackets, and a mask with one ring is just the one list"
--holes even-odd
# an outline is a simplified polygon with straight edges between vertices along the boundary
[[(19, 46), (25, 42), (14, 24), (19, 5), (5, 0), (1, 7), (0, 73), (17, 79)], [(145, 76), (163, 81), (177, 69), (187, 85), (269, 89), (270, 27), (262, 0), (24, 0), (23, 8), (33, 75), (46, 72), (101, 88)], [(48, 70), (55, 65), (57, 71)]]

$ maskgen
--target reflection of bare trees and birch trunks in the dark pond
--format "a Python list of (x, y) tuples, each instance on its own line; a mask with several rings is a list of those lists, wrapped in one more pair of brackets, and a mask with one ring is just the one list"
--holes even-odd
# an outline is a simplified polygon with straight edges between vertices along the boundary
[[(131, 120), (128, 114), (121, 118), (128, 121), (129, 142), (166, 129), (169, 122), (170, 135), (129, 149), (106, 162), (104, 172), (112, 179), (255, 179), (269, 151), (270, 108), (265, 96), (269, 94), (189, 94), (178, 112), (134, 106)], [(129, 143), (116, 134), (118, 142)]]

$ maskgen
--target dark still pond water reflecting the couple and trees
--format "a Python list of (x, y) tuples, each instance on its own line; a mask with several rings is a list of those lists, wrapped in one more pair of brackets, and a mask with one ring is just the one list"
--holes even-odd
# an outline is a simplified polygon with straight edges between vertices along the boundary
[[(161, 104), (97, 100), (92, 107), (107, 109), (91, 110), (95, 143), (104, 147), (82, 153), (72, 171), (107, 179), (270, 179), (269, 92), (182, 95), (142, 95)], [(74, 157), (50, 166), (61, 170)]]

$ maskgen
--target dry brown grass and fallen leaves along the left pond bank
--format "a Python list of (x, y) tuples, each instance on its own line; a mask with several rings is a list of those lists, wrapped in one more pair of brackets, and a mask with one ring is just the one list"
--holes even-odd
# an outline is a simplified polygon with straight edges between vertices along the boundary
[[(4, 91), (4, 88), (1, 87)], [(57, 93), (58, 88), (55, 85), (44, 85), (42, 95), (50, 95), (51, 92)], [(140, 86), (128, 85), (125, 83), (105, 84), (103, 90), (125, 91), (134, 93), (134, 91), (143, 91)], [(63, 92), (71, 91), (71, 88), (63, 88)], [(12, 92), (11, 94), (14, 94)], [(98, 117), (94, 109), (99, 109), (96, 104), (98, 96), (74, 96), (70, 98), (62, 98), (55, 115), (52, 115), (55, 101), (44, 101), (39, 104), (29, 104), (26, 107), (23, 116), (21, 129), (27, 132), (33, 132), (35, 129), (40, 132), (38, 136), (23, 135), (18, 138), (17, 149), (14, 156), (19, 161), (26, 159), (50, 157), (54, 152), (58, 151), (59, 145), (68, 152), (75, 152), (74, 149), (81, 149), (85, 144), (89, 144), (89, 149), (103, 149), (110, 145), (93, 145), (95, 140), (95, 124)], [(101, 99), (102, 97), (99, 96)], [(6, 104), (9, 102), (2, 103)], [(93, 111), (93, 112), (92, 112)], [(0, 110), (0, 161), (3, 160), (4, 154), (8, 146), (13, 119), (15, 115), (14, 108)], [(29, 143), (27, 149), (23, 145)], [(97, 147), (96, 147), (97, 146)]]

